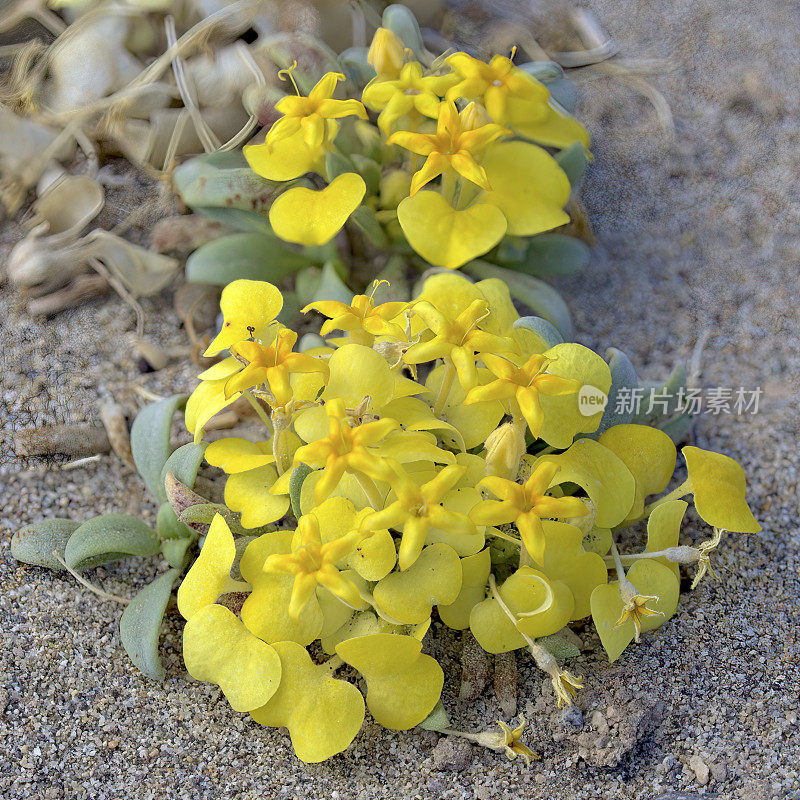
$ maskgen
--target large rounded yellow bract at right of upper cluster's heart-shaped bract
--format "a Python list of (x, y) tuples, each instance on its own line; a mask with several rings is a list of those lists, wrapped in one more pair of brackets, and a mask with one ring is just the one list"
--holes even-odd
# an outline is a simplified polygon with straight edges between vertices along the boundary
[(497, 206), (512, 236), (533, 236), (569, 222), (564, 205), (570, 185), (564, 170), (541, 147), (503, 142), (483, 159), (491, 190), (480, 200)]

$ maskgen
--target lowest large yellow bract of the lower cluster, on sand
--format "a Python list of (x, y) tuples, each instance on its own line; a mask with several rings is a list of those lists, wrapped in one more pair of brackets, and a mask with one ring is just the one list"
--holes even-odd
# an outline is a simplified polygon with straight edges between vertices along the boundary
[(251, 711), (260, 725), (289, 729), (297, 757), (325, 761), (350, 746), (364, 722), (364, 698), (353, 684), (331, 677), (294, 642), (276, 642), (283, 678), (266, 705)]

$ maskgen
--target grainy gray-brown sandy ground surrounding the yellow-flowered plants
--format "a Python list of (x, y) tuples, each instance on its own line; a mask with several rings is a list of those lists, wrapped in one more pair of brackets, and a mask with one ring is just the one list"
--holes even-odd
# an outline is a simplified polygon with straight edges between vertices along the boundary
[[(745, 466), (764, 532), (729, 537), (716, 561), (719, 580), (684, 595), (678, 614), (617, 664), (609, 666), (596, 637), (583, 632), (586, 652), (572, 664), (585, 675), (581, 714), (557, 713), (541, 676), (521, 663), (520, 707), (531, 721), (529, 744), (542, 756), (530, 769), (370, 722), (347, 753), (306, 767), (285, 731), (256, 726), (214, 687), (187, 679), (177, 619), (165, 626), (167, 680), (148, 682), (121, 651), (118, 606), (11, 559), (11, 532), (44, 516), (152, 516), (138, 479), (114, 457), (66, 472), (7, 464), (0, 473), (3, 797), (800, 798), (800, 7), (783, 0), (590, 6), (626, 54), (674, 60), (676, 69), (656, 84), (673, 109), (677, 141), (670, 144), (629, 89), (606, 79), (583, 84), (596, 155), (585, 202), (599, 244), (587, 273), (562, 288), (580, 340), (622, 348), (645, 376), (688, 357), (707, 329), (703, 385), (763, 389), (758, 414), (703, 415), (695, 438)], [(6, 248), (14, 235), (7, 226)], [(169, 298), (146, 301), (145, 310), (150, 336), (184, 342)], [(42, 323), (4, 289), (0, 313), (6, 434), (94, 417), (98, 392), (133, 410), (140, 400), (132, 383), (166, 394), (189, 381), (185, 367), (139, 373), (129, 348), (133, 315), (116, 298)], [(685, 541), (704, 535), (690, 525)], [(161, 569), (123, 563), (93, 579), (124, 594)], [(454, 723), (492, 724), (499, 711), (491, 688), (468, 708), (453, 700), (458, 641), (436, 630), (433, 647), (449, 676)]]

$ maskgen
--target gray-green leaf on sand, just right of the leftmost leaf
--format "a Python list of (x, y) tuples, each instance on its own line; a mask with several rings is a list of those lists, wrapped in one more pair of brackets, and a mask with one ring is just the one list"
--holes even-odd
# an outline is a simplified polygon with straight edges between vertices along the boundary
[(128, 556), (153, 556), (159, 549), (156, 532), (137, 517), (103, 514), (75, 529), (64, 549), (64, 561), (70, 569), (89, 569)]

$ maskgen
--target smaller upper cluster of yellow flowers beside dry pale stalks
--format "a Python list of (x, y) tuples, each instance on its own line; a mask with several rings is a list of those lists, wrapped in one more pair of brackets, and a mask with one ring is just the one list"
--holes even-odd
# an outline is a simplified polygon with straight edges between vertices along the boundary
[[(277, 103), (281, 116), (264, 144), (244, 149), (259, 175), (287, 183), (269, 212), (275, 234), (322, 245), (361, 208), (390, 240), (405, 239), (430, 264), (455, 269), (504, 236), (569, 222), (569, 180), (539, 145), (588, 147), (589, 137), (547, 88), (504, 56), (487, 64), (453, 53), (429, 69), (409, 56), (380, 28), (369, 53), (376, 77), (361, 100), (335, 99), (345, 76), (329, 72), (307, 97), (297, 89)], [(377, 125), (367, 109), (378, 112)], [(379, 180), (365, 181), (363, 163), (357, 171), (326, 158), (337, 153), (340, 120), (353, 123), (364, 152), (375, 155)], [(308, 173), (314, 182), (298, 185)]]

